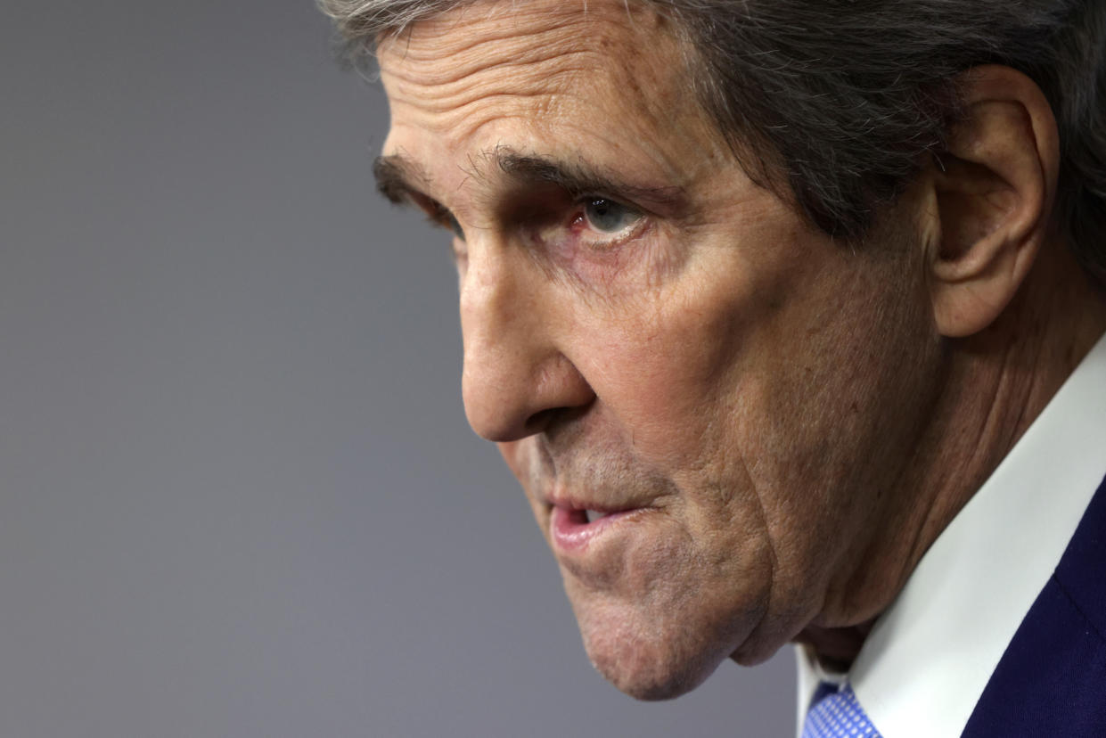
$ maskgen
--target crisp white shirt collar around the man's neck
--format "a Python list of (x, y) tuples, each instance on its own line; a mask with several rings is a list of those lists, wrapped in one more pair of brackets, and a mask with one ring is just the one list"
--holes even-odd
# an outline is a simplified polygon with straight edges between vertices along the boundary
[[(848, 680), (886, 738), (959, 736), (1106, 476), (1106, 336), (918, 563)], [(799, 725), (820, 672), (800, 647)]]

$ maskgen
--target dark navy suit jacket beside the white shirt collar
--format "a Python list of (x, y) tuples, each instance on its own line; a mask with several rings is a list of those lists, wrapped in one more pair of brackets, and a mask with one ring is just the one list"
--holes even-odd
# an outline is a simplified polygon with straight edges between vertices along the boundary
[(1106, 480), (962, 735), (1106, 738)]

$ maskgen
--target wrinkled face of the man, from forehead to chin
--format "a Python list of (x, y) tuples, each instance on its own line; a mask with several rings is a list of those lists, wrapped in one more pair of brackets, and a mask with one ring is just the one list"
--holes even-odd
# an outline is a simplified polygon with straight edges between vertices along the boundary
[(912, 241), (832, 242), (750, 181), (620, 1), (477, 2), (379, 63), (382, 184), (463, 235), (466, 412), (596, 667), (674, 696), (845, 624), (935, 382)]

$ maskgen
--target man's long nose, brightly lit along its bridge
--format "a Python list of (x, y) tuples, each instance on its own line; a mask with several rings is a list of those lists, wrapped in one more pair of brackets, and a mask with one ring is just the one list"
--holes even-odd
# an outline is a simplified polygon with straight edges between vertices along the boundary
[(571, 325), (556, 283), (520, 248), (470, 243), (460, 283), (465, 414), (488, 440), (541, 433), (595, 395), (563, 352)]

